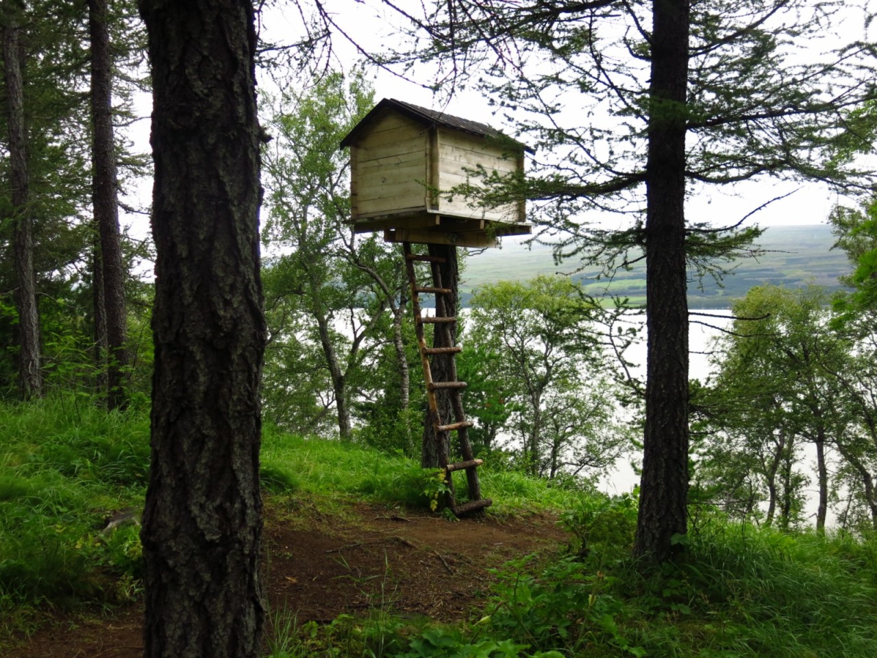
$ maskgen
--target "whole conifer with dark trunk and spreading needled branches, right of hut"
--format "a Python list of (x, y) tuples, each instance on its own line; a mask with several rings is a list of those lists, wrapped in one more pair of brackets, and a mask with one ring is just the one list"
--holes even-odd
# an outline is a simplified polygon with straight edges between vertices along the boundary
[[(845, 109), (873, 98), (873, 52), (857, 43), (804, 54), (836, 9), (804, 0), (429, 7), (411, 17), (427, 45), (399, 59), (438, 62), (437, 88), (471, 82), (549, 154), (525, 178), (493, 177), (483, 202), (538, 200), (534, 218), (560, 256), (607, 273), (642, 250), (649, 339), (635, 553), (663, 561), (687, 532), (687, 286), (722, 275), (722, 261), (759, 234), (687, 217), (686, 200), (767, 177), (866, 189), (870, 176), (829, 147)], [(624, 213), (631, 221), (618, 227)]]

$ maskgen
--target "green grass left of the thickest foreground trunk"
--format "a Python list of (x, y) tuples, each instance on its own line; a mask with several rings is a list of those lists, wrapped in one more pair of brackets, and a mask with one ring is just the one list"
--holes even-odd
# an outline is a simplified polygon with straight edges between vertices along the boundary
[(0, 407), (0, 617), (136, 593), (136, 527), (101, 530), (142, 505), (148, 461), (142, 414), (73, 396)]

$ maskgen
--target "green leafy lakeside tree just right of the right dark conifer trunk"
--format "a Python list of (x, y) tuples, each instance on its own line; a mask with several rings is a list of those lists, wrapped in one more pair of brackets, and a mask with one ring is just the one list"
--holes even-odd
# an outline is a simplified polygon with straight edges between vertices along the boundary
[[(787, 290), (759, 286), (734, 305), (740, 318), (724, 339), (716, 390), (731, 412), (717, 414), (728, 429), (743, 435), (740, 451), (752, 461), (759, 455), (760, 473), (769, 491), (767, 519), (773, 519), (778, 474), (786, 501), (792, 495), (789, 461), (799, 443), (816, 454), (818, 487), (816, 530), (824, 531), (833, 495), (829, 452), (851, 448), (854, 423), (838, 373), (851, 356), (851, 343), (831, 329), (828, 297), (822, 289)], [(720, 454), (712, 458), (721, 459)], [(726, 464), (730, 464), (727, 461)], [(738, 469), (741, 468), (738, 466)], [(781, 524), (790, 509), (784, 504)]]

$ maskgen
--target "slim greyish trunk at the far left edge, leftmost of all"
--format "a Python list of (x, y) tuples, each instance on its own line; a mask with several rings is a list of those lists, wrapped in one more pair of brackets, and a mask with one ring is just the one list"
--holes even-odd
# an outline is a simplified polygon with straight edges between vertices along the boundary
[(9, 171), (11, 179), (12, 252), (15, 257), (15, 302), (18, 311), (18, 385), (21, 397), (43, 394), (39, 354), (39, 308), (37, 280), (33, 270), (33, 219), (25, 131), (25, 86), (21, 69), (23, 50), (19, 39), (18, 4), (4, 2), (3, 56), (6, 85), (6, 118), (9, 128)]

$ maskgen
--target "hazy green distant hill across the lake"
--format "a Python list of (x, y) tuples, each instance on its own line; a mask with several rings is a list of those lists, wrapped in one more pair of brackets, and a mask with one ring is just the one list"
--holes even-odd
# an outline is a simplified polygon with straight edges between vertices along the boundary
[[(765, 283), (795, 288), (814, 283), (829, 290), (839, 290), (838, 276), (850, 271), (846, 254), (832, 249), (834, 236), (829, 225), (768, 226), (759, 239), (765, 254), (733, 263), (734, 271), (725, 276), (720, 287), (711, 277), (689, 282), (688, 305), (691, 308), (728, 308), (731, 301), (744, 297), (752, 286)], [(551, 247), (506, 242), (502, 249), (487, 249), (465, 259), (460, 281), (460, 298), (467, 305), (472, 290), (484, 283), (527, 280), (540, 274), (573, 272), (576, 263), (554, 264)], [(588, 268), (575, 279), (582, 280), (592, 294), (607, 290), (605, 280), (596, 280), (595, 268)], [(630, 272), (619, 272), (610, 283), (610, 293), (629, 297), (631, 304), (645, 302), (645, 263)]]

